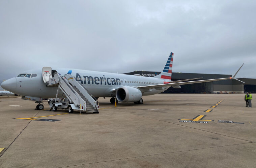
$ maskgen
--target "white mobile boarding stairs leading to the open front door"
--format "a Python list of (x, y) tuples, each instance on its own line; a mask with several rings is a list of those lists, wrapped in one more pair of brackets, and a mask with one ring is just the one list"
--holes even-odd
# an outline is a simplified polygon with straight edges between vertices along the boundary
[(60, 76), (57, 72), (52, 74), (48, 81), (48, 87), (58, 86), (55, 103), (60, 90), (70, 101), (73, 110), (98, 113), (97, 99), (70, 74)]

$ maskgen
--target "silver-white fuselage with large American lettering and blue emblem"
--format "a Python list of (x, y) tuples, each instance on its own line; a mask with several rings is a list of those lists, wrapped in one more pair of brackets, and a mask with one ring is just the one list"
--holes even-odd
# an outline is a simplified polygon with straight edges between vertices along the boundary
[[(53, 69), (56, 70), (61, 76), (67, 74), (68, 71), (72, 71), (72, 76), (76, 77), (76, 80), (81, 82), (83, 86), (94, 97), (115, 97), (115, 89), (122, 86), (149, 86), (164, 84), (164, 82), (170, 82), (168, 79), (142, 77), (125, 74), (114, 74), (107, 72), (87, 71), (78, 69)], [(33, 96), (41, 98), (55, 98), (57, 93), (57, 87), (47, 87), (46, 83), (42, 79), (41, 70), (30, 70), (24, 74), (36, 74), (36, 77), (15, 77), (11, 78), (5, 83), (2, 83), (2, 87), (6, 90), (14, 92), (23, 96)], [(158, 89), (145, 89), (142, 90), (142, 95), (153, 95), (161, 93), (169, 87), (163, 87)], [(61, 97), (59, 94), (58, 97)]]

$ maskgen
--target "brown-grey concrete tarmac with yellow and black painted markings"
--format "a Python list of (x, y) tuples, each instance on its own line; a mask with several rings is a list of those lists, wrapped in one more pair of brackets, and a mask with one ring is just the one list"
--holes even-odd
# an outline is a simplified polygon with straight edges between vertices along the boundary
[(98, 101), (99, 114), (79, 115), (0, 97), (0, 167), (256, 165), (255, 99), (246, 108), (244, 94), (157, 94), (117, 108)]

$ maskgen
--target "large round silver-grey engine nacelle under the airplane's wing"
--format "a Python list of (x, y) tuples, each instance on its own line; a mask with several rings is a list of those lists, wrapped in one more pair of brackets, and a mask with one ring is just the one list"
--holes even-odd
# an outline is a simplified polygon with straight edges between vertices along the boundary
[(136, 102), (141, 97), (141, 91), (131, 86), (123, 86), (116, 90), (116, 99), (120, 102)]

